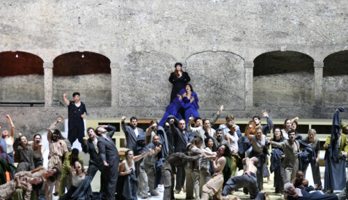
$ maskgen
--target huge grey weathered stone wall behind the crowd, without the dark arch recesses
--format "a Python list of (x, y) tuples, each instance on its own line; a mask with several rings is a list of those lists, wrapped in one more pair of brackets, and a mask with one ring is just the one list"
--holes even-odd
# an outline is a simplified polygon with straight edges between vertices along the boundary
[[(170, 99), (168, 77), (178, 61), (191, 76), (203, 117), (225, 105), (222, 116), (232, 112), (236, 118), (262, 109), (275, 118), (291, 117), (290, 111), (331, 118), (333, 106), (347, 105), (347, 77), (323, 78), (322, 66), (327, 56), (341, 52), (328, 65), (339, 63), (348, 71), (347, 10), (345, 1), (322, 0), (1, 1), (0, 54), (35, 54), (45, 66), (45, 84), (42, 75), (1, 77), (0, 100), (63, 102), (63, 93), (71, 99), (79, 91), (88, 117), (161, 118)], [(66, 70), (52, 79), (55, 59), (69, 52), (104, 56), (111, 74), (75, 76)], [(268, 68), (292, 63), (294, 70), (253, 70), (267, 52), (294, 52), (287, 59), (261, 60)], [(306, 55), (310, 71), (297, 65), (303, 63), (292, 57), (298, 54)], [(23, 132), (46, 129), (65, 112), (63, 106), (0, 108)]]

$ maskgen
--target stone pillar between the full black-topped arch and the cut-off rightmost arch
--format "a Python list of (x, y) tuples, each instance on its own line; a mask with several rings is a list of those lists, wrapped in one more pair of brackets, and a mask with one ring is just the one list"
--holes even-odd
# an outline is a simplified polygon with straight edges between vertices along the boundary
[(323, 68), (324, 62), (314, 62), (314, 99), (315, 105), (321, 107), (323, 102)]

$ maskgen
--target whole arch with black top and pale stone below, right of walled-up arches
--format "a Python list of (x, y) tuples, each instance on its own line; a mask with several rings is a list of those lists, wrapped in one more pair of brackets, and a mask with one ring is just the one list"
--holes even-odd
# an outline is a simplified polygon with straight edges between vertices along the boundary
[(301, 52), (274, 51), (254, 60), (255, 106), (314, 105), (314, 60)]

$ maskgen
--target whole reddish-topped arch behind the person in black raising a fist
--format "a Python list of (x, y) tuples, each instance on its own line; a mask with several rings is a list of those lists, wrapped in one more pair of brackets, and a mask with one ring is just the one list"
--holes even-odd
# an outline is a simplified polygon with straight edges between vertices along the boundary
[(111, 106), (110, 60), (94, 52), (69, 52), (53, 61), (53, 100), (63, 104), (63, 93), (79, 92), (87, 107)]

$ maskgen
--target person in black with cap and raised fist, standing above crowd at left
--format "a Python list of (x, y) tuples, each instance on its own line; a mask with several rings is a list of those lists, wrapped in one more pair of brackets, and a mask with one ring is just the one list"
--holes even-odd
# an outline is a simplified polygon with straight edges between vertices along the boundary
[(66, 93), (63, 94), (63, 99), (68, 105), (68, 139), (70, 144), (74, 144), (76, 139), (82, 145), (85, 128), (84, 128), (84, 118), (86, 117), (86, 106), (80, 101), (80, 93), (73, 93), (73, 101), (69, 101), (66, 98)]

